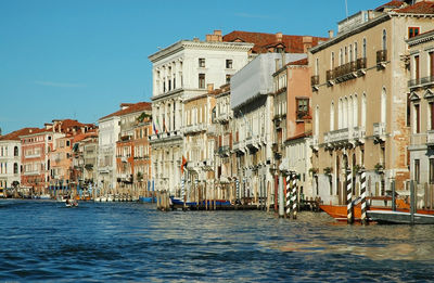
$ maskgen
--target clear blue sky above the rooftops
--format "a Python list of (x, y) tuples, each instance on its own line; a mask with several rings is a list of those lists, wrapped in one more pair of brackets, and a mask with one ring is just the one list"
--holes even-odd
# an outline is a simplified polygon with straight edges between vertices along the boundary
[[(347, 0), (348, 13), (385, 1)], [(148, 56), (214, 29), (327, 37), (345, 0), (0, 0), (0, 128), (97, 123), (150, 101)]]

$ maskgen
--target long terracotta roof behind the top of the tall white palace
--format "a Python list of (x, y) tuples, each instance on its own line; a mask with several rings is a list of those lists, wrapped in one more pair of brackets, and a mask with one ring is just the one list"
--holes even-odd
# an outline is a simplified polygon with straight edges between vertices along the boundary
[(252, 49), (253, 53), (266, 53), (270, 47), (278, 47), (282, 44), (284, 51), (288, 53), (304, 53), (303, 39), (309, 40), (306, 42), (310, 47), (318, 44), (318, 41), (326, 41), (328, 38), (310, 37), (310, 36), (288, 36), (281, 34), (264, 34), (264, 33), (251, 33), (234, 30), (224, 36), (224, 41), (227, 42), (251, 42), (255, 46)]

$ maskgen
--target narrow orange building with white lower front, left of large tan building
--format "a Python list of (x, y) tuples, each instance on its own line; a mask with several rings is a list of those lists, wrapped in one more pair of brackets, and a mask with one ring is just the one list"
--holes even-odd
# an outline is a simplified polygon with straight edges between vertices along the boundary
[[(309, 39), (305, 40), (309, 41)], [(295, 175), (301, 197), (312, 197), (311, 149), (309, 146), (311, 88), (307, 59), (288, 63), (273, 74), (273, 80), (272, 152), (276, 168), (280, 170), (283, 178)], [(276, 190), (278, 189), (275, 188)]]

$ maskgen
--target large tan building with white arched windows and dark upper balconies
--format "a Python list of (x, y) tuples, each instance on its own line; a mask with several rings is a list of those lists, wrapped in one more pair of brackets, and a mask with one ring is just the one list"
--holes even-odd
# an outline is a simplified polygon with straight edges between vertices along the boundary
[(310, 49), (314, 191), (326, 203), (346, 203), (348, 172), (356, 196), (361, 170), (371, 195), (385, 195), (392, 180), (405, 188), (410, 120), (404, 39), (432, 29), (433, 16), (432, 1), (392, 1), (341, 21), (336, 37), (331, 33)]

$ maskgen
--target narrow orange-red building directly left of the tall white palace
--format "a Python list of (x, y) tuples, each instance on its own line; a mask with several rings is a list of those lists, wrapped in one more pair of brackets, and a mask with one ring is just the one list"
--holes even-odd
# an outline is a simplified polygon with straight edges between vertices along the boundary
[(152, 150), (150, 137), (152, 136), (152, 115), (143, 114), (139, 116), (138, 124), (135, 126), (133, 145), (133, 186), (143, 195), (146, 191), (153, 191), (151, 156)]

